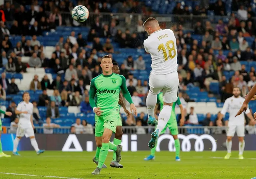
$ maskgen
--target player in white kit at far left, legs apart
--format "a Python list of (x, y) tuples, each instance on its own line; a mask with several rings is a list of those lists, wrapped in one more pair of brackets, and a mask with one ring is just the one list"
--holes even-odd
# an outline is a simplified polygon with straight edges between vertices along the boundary
[(20, 139), (25, 135), (26, 138), (30, 138), (31, 145), (35, 149), (36, 153), (44, 153), (44, 150), (38, 148), (34, 134), (34, 124), (33, 124), (33, 104), (29, 102), (30, 96), (28, 92), (24, 92), (22, 95), (23, 101), (20, 102), (15, 110), (15, 114), (20, 115), (18, 122), (18, 129), (16, 133), (16, 138), (13, 142), (13, 155), (20, 155), (17, 152), (17, 147), (20, 142)]

